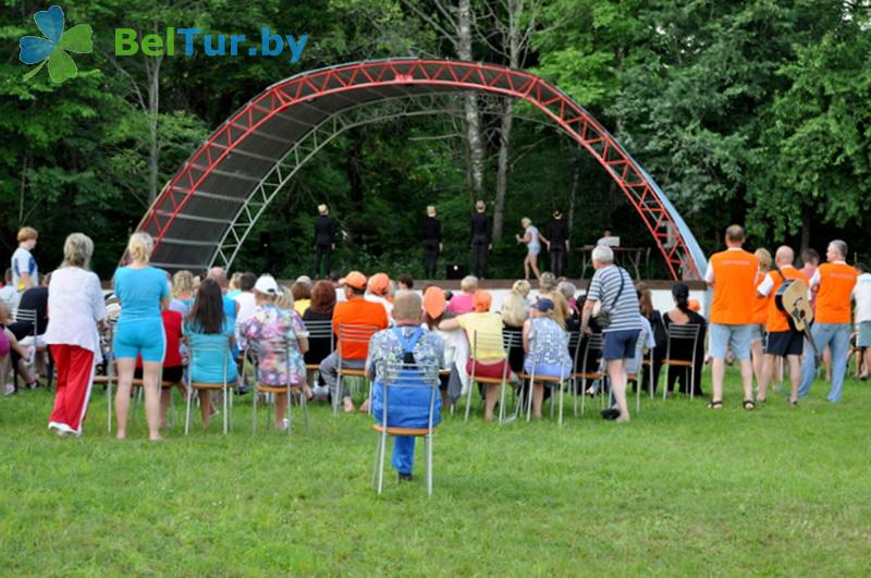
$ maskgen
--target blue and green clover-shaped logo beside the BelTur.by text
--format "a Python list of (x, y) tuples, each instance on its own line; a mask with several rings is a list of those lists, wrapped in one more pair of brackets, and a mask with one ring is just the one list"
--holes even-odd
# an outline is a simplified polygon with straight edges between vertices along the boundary
[(46, 35), (25, 36), (19, 42), (21, 54), (19, 59), (25, 64), (39, 65), (24, 75), (27, 81), (48, 62), (48, 75), (57, 84), (73, 78), (78, 74), (75, 62), (66, 52), (89, 54), (94, 51), (91, 35), (94, 30), (88, 24), (79, 24), (63, 32), (63, 10), (61, 7), (51, 7), (34, 14), (34, 22), (39, 32)]

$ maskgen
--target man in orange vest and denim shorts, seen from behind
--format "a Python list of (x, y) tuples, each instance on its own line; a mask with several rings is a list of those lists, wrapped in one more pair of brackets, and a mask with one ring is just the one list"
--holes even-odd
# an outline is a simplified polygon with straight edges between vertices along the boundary
[(750, 324), (756, 299), (756, 274), (759, 260), (741, 248), (744, 227), (726, 229), (726, 250), (711, 256), (704, 281), (713, 287), (711, 304), (711, 378), (713, 397), (708, 407), (723, 407), (723, 378), (726, 372), (726, 353), (740, 361), (744, 384), (744, 408), (755, 409), (753, 368), (750, 364)]

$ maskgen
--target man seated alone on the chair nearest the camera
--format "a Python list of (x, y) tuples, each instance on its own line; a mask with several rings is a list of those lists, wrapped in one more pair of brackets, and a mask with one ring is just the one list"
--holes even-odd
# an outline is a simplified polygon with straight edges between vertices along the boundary
[[(380, 399), (382, 397), (378, 389), (381, 386), (380, 381), (383, 379), (385, 364), (408, 362), (418, 366), (441, 367), (444, 345), (441, 337), (420, 325), (421, 311), (422, 303), (417, 293), (405, 290), (396, 292), (392, 312), (394, 327), (379, 331), (372, 335), (372, 340), (369, 342), (366, 374), (375, 382), (376, 395), (372, 401), (372, 415), (379, 421), (381, 420)], [(420, 392), (425, 391), (420, 390)], [(428, 398), (429, 393), (427, 393), (427, 402)], [(426, 409), (421, 411), (420, 404), (416, 403), (409, 407), (397, 407), (394, 404), (398, 404), (398, 402), (389, 403), (389, 426), (419, 427), (412, 425), (418, 420), (426, 423), (428, 413)], [(433, 426), (439, 421), (440, 408), (441, 397), (437, 395)], [(402, 419), (403, 422), (398, 425), (394, 419)], [(401, 482), (410, 481), (415, 458), (415, 438), (410, 435), (395, 435), (394, 438), (391, 464), (396, 468)]]

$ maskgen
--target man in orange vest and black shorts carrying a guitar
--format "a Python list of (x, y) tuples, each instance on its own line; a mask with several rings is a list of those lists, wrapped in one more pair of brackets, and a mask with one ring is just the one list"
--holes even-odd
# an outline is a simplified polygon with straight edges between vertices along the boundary
[(762, 283), (756, 288), (759, 298), (768, 307), (768, 320), (765, 330), (769, 332), (768, 343), (765, 344), (765, 362), (762, 367), (762, 378), (759, 380), (759, 391), (756, 394), (757, 403), (764, 403), (768, 393), (769, 382), (774, 374), (774, 362), (777, 357), (784, 357), (789, 366), (789, 382), (792, 392), (789, 404), (798, 404), (798, 385), (801, 380), (801, 352), (805, 347), (805, 334), (800, 331), (789, 329), (789, 321), (785, 312), (777, 309), (774, 296), (777, 290), (789, 279), (807, 278), (793, 267), (795, 253), (787, 246), (777, 249), (774, 256), (776, 271), (770, 272)]

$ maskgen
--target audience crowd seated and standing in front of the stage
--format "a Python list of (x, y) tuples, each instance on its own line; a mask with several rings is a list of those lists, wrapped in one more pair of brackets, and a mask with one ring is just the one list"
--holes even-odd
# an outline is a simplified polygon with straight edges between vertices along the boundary
[[(254, 382), (290, 385), (306, 399), (331, 401), (336, 410), (359, 409), (379, 417), (383, 411), (379, 367), (414, 360), (438, 366), (437, 410), (464, 395), (479, 394), (484, 419), (496, 419), (496, 408), (505, 418), (510, 404), (505, 391), (514, 390), (517, 413), (528, 406), (529, 414), (540, 418), (543, 401), (554, 388), (574, 388), (571, 393), (576, 395), (605, 395), (609, 403), (602, 416), (624, 422), (630, 417), (629, 383), (655, 393), (662, 366), (667, 366), (664, 395), (675, 386), (702, 395), (710, 339), (711, 408), (722, 407), (723, 372), (731, 359), (740, 366), (746, 409), (765, 401), (768, 384), (781, 371), (778, 357), (790, 370), (789, 401), (796, 404), (807, 394), (815, 366), (814, 357), (805, 355), (801, 367), (800, 337), (781, 336), (789, 328), (772, 296), (787, 278), (805, 279), (814, 287), (811, 296), (819, 310), (814, 336), (831, 352), (830, 401), (839, 401), (843, 391), (850, 296), (857, 304), (856, 346), (863, 351), (857, 371), (862, 379), (868, 376), (871, 274), (861, 263), (846, 265), (843, 242), (830, 245), (829, 262), (819, 269), (808, 255), (806, 269), (811, 269), (806, 271), (793, 267), (788, 247), (778, 248), (773, 259), (765, 249), (743, 250), (743, 230), (729, 227), (727, 249), (711, 257), (704, 275), (713, 287), (709, 327), (684, 283), (672, 286), (673, 308), (657, 310), (648, 286), (635, 283), (614, 262), (606, 245), (592, 250), (594, 274), (586, 294), (568, 280), (539, 272), (535, 259), (539, 234), (530, 223), (525, 225), (526, 236), (518, 236), (518, 242), (529, 248), (527, 266), (538, 279), (537, 291), (529, 281), (517, 281), (498, 310), (491, 292), (479, 287), (473, 275), (461, 281), (457, 293), (437, 285), (416, 293), (409, 275), (391, 280), (383, 272), (367, 276), (349, 271), (315, 283), (304, 275), (290, 287), (280, 286), (269, 274), (238, 272), (228, 279), (222, 268), (210, 269), (204, 278), (184, 270), (170, 276), (149, 263), (154, 242), (145, 233), (132, 235), (127, 265), (115, 271), (111, 292), (105, 295), (89, 271), (90, 238), (70, 235), (60, 268), (40, 274), (32, 254), (38, 234), (24, 227), (0, 288), (0, 384), (10, 394), (17, 390), (15, 383), (7, 383), (13, 373), (24, 388), (32, 388), (37, 384), (36, 372), (53, 371), (57, 396), (49, 428), (79, 435), (95, 373), (114, 364), (116, 436), (126, 435), (132, 388), (142, 384), (149, 438), (158, 441), (167, 425), (171, 388), (179, 384), (189, 395), (182, 385), (186, 373), (192, 382), (224, 383), (240, 394)], [(746, 307), (750, 302), (741, 293), (745, 286), (758, 294), (751, 307)], [(25, 311), (33, 313), (28, 317)], [(692, 337), (672, 339), (677, 327), (690, 328), (680, 334)], [(37, 355), (45, 353), (50, 355)], [(37, 358), (51, 364), (44, 367), (35, 362)], [(256, 370), (246, 371), (246, 359)], [(589, 388), (578, 390), (578, 376), (590, 378), (584, 381)], [(367, 377), (376, 383), (372, 407), (366, 396), (356, 408), (348, 382)], [(214, 391), (197, 392), (204, 427), (217, 411)], [(277, 395), (279, 430), (289, 427), (287, 403), (286, 394)], [(401, 477), (407, 477), (414, 438), (400, 438), (393, 464)]]

